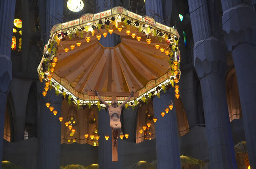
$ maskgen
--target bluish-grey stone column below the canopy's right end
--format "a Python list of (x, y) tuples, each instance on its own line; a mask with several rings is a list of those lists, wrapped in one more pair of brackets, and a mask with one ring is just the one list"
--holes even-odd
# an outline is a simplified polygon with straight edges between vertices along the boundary
[(154, 96), (153, 99), (154, 116), (158, 119), (155, 124), (158, 169), (181, 169), (175, 105), (168, 114), (161, 116), (161, 112), (165, 112), (171, 103), (170, 100), (174, 104), (173, 88), (166, 93), (161, 92), (160, 98)]

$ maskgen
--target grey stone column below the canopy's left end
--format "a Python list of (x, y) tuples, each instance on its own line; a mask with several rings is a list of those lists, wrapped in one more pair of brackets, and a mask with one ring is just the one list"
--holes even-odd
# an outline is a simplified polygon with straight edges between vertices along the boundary
[[(40, 88), (43, 89), (43, 85), (39, 87), (38, 92), (40, 102), (38, 169), (59, 169), (61, 125), (59, 117), (61, 114), (62, 98), (60, 95), (55, 95), (54, 89), (48, 90), (47, 95), (43, 97)], [(50, 106), (53, 106), (54, 110), (58, 111), (56, 116), (46, 107), (46, 102), (50, 102)]]

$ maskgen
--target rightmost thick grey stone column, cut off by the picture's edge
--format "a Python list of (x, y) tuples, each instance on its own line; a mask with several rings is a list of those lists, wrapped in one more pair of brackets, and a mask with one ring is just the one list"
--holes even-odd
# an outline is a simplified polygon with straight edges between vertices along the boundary
[(242, 107), (248, 157), (256, 168), (256, 12), (241, 0), (222, 0), (224, 40), (232, 52)]

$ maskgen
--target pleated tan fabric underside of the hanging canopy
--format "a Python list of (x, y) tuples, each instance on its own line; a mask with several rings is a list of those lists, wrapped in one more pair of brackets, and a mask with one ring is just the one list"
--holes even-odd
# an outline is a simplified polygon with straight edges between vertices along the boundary
[[(79, 37), (61, 41), (54, 73), (79, 93), (88, 94), (95, 89), (111, 91), (112, 82), (116, 83), (117, 92), (138, 91), (150, 80), (168, 72), (168, 57), (154, 47), (156, 38), (150, 37), (152, 43), (148, 45), (146, 36), (137, 41), (125, 32), (118, 34), (122, 42), (113, 48), (103, 47), (95, 37), (90, 43)], [(108, 33), (108, 36), (113, 35)], [(65, 53), (64, 48), (70, 48), (77, 41), (81, 46)]]

